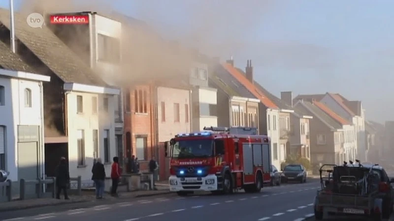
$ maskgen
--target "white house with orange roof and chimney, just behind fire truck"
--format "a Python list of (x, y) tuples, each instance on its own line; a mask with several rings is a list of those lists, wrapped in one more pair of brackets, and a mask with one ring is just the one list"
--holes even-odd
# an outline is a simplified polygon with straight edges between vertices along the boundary
[(242, 84), (256, 99), (260, 100), (258, 107), (259, 133), (271, 138), (271, 164), (280, 168), (285, 156), (281, 153), (279, 146), (279, 108), (255, 86), (251, 61), (247, 62), (245, 74), (242, 74), (242, 70), (234, 67), (232, 58), (227, 60), (222, 66), (237, 80), (237, 83)]

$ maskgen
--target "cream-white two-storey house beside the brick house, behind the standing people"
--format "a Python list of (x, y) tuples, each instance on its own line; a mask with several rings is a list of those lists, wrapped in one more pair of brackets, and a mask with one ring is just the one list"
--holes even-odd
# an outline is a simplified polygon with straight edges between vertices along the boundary
[(70, 176), (91, 183), (94, 159), (101, 158), (110, 174), (115, 146), (114, 104), (120, 90), (80, 83), (65, 83)]

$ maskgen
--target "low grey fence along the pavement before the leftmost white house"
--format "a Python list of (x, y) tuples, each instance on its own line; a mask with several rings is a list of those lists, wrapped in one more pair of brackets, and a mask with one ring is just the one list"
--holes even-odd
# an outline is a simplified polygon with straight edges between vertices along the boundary
[[(70, 181), (76, 181), (76, 188), (69, 190), (70, 194), (81, 195), (81, 176), (72, 177)], [(34, 179), (26, 180), (21, 179), (19, 181), (19, 199), (29, 198), (44, 198), (44, 197), (56, 197), (56, 178), (45, 177), (45, 179)], [(12, 200), (12, 182), (7, 180), (6, 182), (0, 183), (0, 202)]]

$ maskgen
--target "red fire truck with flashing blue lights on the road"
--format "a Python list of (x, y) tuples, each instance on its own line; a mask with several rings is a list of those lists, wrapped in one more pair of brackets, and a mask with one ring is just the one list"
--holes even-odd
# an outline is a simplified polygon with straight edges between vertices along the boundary
[(257, 128), (204, 127), (199, 133), (178, 134), (164, 145), (170, 158), (170, 191), (260, 192), (270, 182), (270, 145)]

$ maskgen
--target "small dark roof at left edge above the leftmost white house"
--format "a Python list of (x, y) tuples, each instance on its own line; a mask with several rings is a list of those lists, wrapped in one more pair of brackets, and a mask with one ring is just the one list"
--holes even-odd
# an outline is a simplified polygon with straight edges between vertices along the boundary
[(36, 73), (32, 67), (26, 64), (19, 55), (11, 52), (10, 47), (0, 41), (0, 68), (12, 71), (24, 71)]

